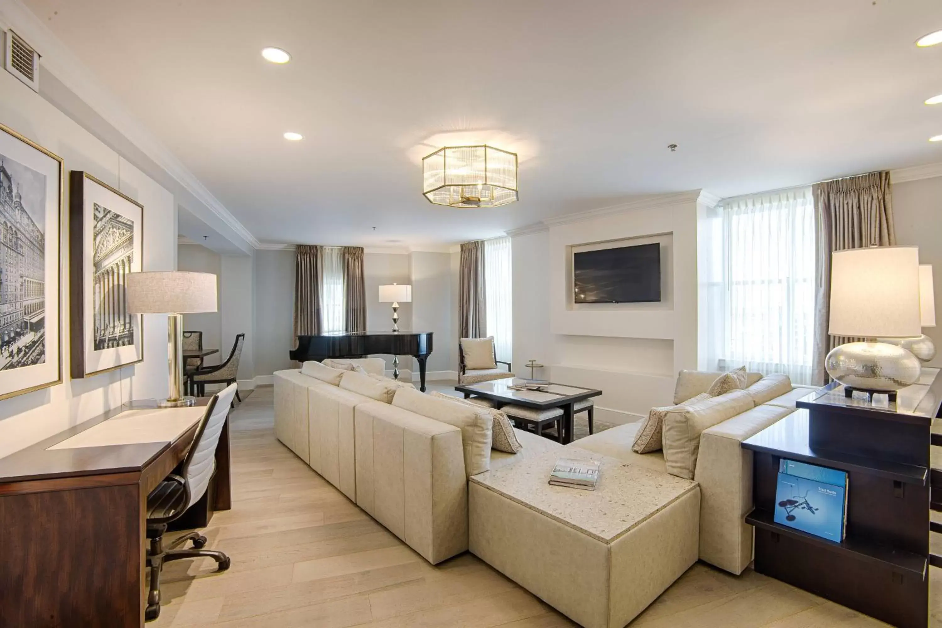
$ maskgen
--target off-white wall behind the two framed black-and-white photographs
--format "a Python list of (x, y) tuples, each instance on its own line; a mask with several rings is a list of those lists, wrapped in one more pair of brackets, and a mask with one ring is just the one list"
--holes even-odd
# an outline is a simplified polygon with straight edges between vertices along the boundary
[[(65, 113), (0, 72), (0, 121), (64, 160), (68, 171), (86, 170), (144, 205), (144, 270), (176, 264), (176, 205), (173, 195)], [(120, 173), (120, 175), (119, 175)], [(68, 185), (68, 183), (66, 184)], [(68, 193), (65, 199), (68, 199)], [(68, 259), (68, 221), (62, 221), (62, 259)], [(69, 312), (68, 264), (61, 266), (61, 311)], [(63, 383), (0, 401), (0, 458), (86, 421), (129, 399), (167, 395), (167, 316), (144, 316), (144, 362), (91, 378), (69, 377), (69, 316), (63, 315)]]

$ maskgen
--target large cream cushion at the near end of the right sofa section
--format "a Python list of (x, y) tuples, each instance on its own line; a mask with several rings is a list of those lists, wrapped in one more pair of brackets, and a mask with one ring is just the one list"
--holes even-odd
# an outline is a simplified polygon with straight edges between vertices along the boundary
[(755, 407), (752, 395), (731, 391), (678, 406), (664, 417), (663, 449), (667, 473), (693, 479), (700, 449), (700, 434), (726, 419)]

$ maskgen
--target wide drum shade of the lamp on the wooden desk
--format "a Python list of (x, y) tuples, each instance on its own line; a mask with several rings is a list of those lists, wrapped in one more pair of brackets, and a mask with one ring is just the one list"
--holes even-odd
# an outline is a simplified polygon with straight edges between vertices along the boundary
[(127, 276), (129, 314), (216, 312), (216, 275), (212, 273), (137, 272)]

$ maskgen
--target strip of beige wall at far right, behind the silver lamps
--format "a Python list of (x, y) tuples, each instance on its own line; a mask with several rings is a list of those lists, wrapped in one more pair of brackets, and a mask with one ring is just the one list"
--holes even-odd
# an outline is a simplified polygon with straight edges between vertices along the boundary
[[(918, 246), (919, 263), (933, 265), (935, 318), (942, 323), (942, 177), (894, 184), (893, 209), (897, 243)], [(922, 332), (937, 351), (929, 365), (942, 367), (942, 327)]]

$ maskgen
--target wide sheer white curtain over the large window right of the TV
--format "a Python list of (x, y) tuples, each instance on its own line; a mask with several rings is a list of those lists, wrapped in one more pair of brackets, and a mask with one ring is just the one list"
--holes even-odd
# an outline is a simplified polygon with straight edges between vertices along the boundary
[(723, 238), (722, 247), (713, 247), (709, 265), (720, 285), (707, 289), (707, 367), (729, 370), (744, 364), (750, 371), (786, 373), (794, 383), (812, 383), (811, 188), (722, 201), (719, 216), (707, 228)]

